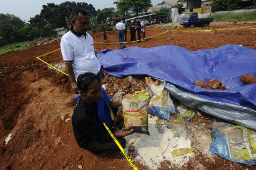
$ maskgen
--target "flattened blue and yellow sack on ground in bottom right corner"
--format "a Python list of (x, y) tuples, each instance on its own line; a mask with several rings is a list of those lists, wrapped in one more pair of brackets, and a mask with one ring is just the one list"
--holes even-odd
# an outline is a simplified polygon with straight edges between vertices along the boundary
[(256, 164), (256, 131), (240, 125), (214, 123), (210, 152), (245, 164)]

